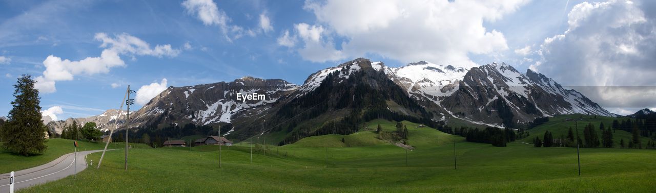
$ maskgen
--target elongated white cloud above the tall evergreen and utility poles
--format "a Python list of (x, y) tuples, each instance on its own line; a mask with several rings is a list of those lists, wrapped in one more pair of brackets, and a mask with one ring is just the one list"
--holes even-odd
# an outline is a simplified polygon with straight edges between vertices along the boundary
[(105, 48), (99, 57), (70, 61), (50, 55), (43, 61), (46, 69), (43, 71), (43, 75), (35, 79), (34, 87), (42, 93), (53, 93), (56, 92), (56, 81), (73, 80), (75, 75), (109, 73), (113, 67), (125, 67), (125, 62), (121, 60), (120, 55), (175, 57), (180, 54), (180, 50), (171, 48), (171, 44), (158, 44), (151, 48), (146, 41), (127, 33), (116, 35), (114, 38), (105, 33), (96, 33), (95, 39), (102, 42), (101, 48)]

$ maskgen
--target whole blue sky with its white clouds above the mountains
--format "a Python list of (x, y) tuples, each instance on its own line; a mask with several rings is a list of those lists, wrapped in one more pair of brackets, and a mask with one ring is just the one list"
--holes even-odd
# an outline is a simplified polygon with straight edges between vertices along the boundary
[[(319, 69), (358, 57), (392, 67), (496, 61), (568, 86), (655, 86), (654, 4), (0, 1), (0, 116), (9, 113), (12, 84), (25, 73), (41, 83), (43, 109), (64, 119), (117, 109), (127, 85), (140, 90), (143, 104), (167, 86), (244, 76), (302, 84)], [(599, 49), (607, 47), (615, 49)], [(581, 61), (600, 55), (609, 57)], [(585, 94), (612, 113), (656, 106), (646, 97), (654, 90), (626, 103), (613, 103), (626, 97), (615, 92), (622, 94)]]

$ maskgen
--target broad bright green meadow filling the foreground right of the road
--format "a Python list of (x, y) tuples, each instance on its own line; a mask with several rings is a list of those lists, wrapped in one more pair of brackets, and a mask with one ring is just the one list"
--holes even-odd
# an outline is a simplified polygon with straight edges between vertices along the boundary
[[(393, 129), (394, 122), (377, 120)], [(408, 150), (352, 135), (308, 137), (264, 152), (250, 147), (134, 149), (106, 154), (100, 169), (21, 192), (654, 192), (656, 150), (508, 147), (468, 143), (429, 128), (409, 130)], [(390, 128), (391, 127), (391, 128)], [(374, 127), (375, 128), (375, 127)], [(424, 130), (426, 129), (426, 130)], [(344, 143), (341, 139), (344, 138)], [(371, 139), (373, 137), (373, 139)], [(436, 138), (436, 139), (434, 139)], [(351, 140), (352, 142), (348, 142)], [(454, 145), (457, 169), (454, 169)], [(312, 143), (310, 143), (312, 142)], [(317, 147), (314, 143), (323, 143)], [(89, 160), (98, 160), (91, 154)]]

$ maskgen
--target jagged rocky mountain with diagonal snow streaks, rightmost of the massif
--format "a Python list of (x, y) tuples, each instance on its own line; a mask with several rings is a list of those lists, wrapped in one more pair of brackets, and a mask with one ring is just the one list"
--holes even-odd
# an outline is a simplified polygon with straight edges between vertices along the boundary
[(528, 70), (520, 73), (505, 63), (474, 67), (459, 89), (439, 105), (456, 118), (513, 127), (537, 116), (599, 114), (613, 116), (575, 90)]

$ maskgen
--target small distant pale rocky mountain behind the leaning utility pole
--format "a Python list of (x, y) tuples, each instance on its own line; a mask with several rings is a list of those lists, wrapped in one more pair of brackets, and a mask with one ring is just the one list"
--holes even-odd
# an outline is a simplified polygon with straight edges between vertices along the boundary
[(99, 130), (106, 132), (109, 131), (110, 129), (116, 128), (117, 121), (118, 124), (123, 124), (126, 114), (127, 111), (119, 112), (116, 109), (110, 109), (105, 111), (105, 113), (98, 114), (96, 116), (89, 116), (85, 118), (67, 118), (66, 120), (55, 120), (55, 121), (51, 120), (46, 123), (46, 127), (48, 128), (50, 133), (57, 133), (58, 135), (60, 135), (62, 134), (64, 127), (73, 124), (73, 122), (79, 124), (80, 126), (84, 126), (84, 124), (87, 124), (87, 122), (94, 122), (96, 123), (96, 127)]

